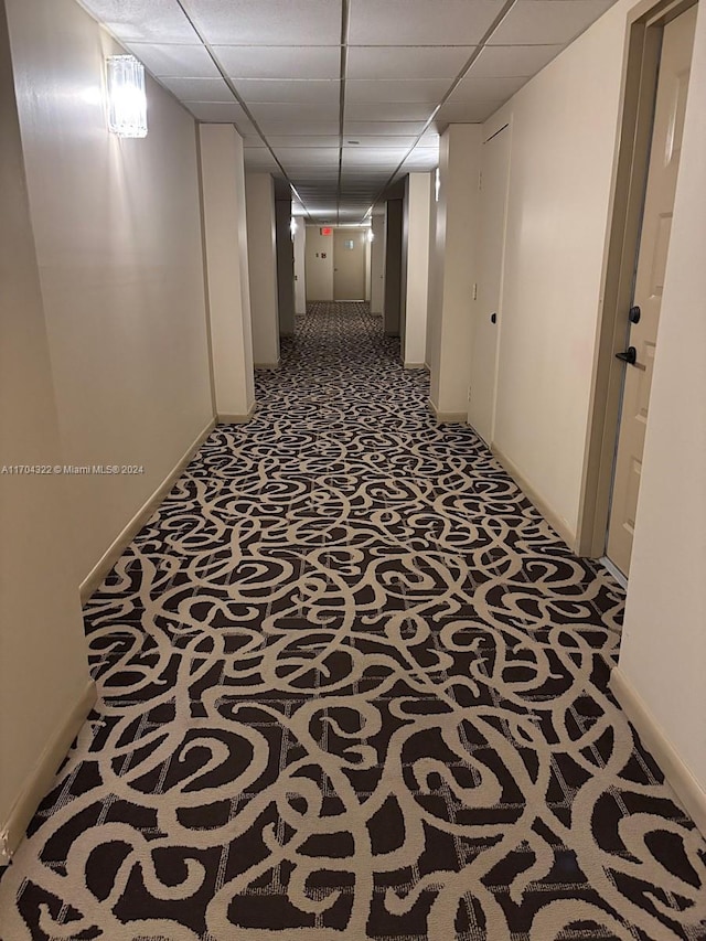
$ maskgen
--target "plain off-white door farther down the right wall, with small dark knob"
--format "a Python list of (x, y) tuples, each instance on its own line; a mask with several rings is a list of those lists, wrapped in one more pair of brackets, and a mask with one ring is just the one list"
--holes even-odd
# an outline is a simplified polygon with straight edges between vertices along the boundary
[(510, 127), (505, 127), (485, 141), (481, 160), (480, 267), (473, 304), (468, 421), (488, 445), (493, 440), (495, 421), (509, 170)]

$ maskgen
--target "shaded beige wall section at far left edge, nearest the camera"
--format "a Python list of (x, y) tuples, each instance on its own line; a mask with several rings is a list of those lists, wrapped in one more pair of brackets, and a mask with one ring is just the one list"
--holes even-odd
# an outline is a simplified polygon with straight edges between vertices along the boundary
[[(0, 2), (0, 466), (64, 463)], [(77, 481), (0, 474), (0, 863), (18, 801), (89, 682), (71, 565)], [(78, 716), (81, 720), (83, 716)], [(68, 741), (76, 731), (68, 730)], [(44, 771), (50, 774), (63, 756)], [(49, 783), (49, 782), (47, 782)], [(36, 799), (41, 798), (36, 794)], [(34, 808), (30, 806), (31, 812)], [(25, 819), (18, 821), (22, 827)], [(14, 834), (21, 834), (21, 828)]]

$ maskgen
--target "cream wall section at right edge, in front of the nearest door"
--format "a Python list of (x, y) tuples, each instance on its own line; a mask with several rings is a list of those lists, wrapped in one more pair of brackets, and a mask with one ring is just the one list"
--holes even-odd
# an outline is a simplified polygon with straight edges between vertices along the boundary
[(650, 396), (620, 671), (706, 823), (706, 15), (699, 9)]

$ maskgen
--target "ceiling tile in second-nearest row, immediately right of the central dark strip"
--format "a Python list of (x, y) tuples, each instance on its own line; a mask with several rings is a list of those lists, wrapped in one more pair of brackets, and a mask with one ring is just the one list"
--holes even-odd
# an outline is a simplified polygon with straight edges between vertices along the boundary
[(459, 74), (474, 46), (350, 46), (347, 78), (447, 79)]

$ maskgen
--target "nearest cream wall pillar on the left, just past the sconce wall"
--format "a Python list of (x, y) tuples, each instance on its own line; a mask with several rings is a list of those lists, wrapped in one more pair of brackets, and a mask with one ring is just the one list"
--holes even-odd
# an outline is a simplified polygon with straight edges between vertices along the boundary
[(215, 407), (243, 421), (255, 406), (243, 139), (199, 125), (199, 141)]

